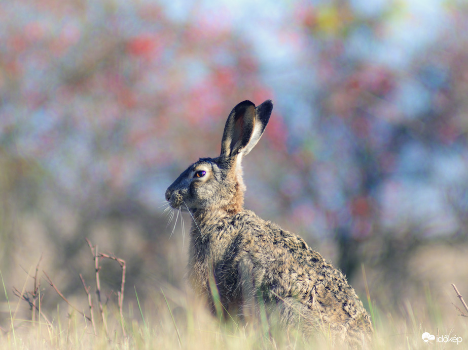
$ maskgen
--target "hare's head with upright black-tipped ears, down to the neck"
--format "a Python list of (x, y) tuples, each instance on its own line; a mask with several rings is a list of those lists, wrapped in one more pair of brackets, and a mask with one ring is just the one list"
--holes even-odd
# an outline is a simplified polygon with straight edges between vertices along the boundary
[(242, 210), (245, 186), (242, 157), (260, 140), (273, 109), (271, 100), (255, 107), (244, 101), (234, 107), (224, 127), (221, 155), (200, 158), (190, 165), (166, 190), (166, 200), (175, 209)]

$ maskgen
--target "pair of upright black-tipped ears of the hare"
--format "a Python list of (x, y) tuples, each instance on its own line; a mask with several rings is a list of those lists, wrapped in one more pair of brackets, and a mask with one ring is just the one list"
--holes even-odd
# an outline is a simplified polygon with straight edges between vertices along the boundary
[(257, 144), (270, 119), (273, 103), (267, 100), (257, 108), (243, 101), (233, 108), (224, 127), (221, 156), (246, 155)]

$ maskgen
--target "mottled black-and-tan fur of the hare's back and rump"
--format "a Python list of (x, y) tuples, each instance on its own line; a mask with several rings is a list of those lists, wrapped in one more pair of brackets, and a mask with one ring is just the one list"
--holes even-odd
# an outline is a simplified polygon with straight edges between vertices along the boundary
[(337, 319), (364, 310), (341, 271), (327, 263), (301, 237), (262, 220), (253, 212), (248, 214), (254, 215), (249, 226), (250, 256), (255, 258), (254, 265), (262, 271), (267, 284), (275, 286), (283, 296), (300, 298), (309, 308), (318, 302), (330, 308), (331, 313), (335, 310)]

